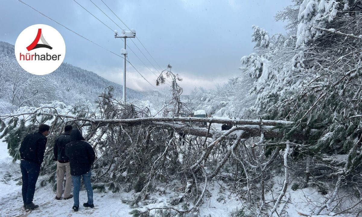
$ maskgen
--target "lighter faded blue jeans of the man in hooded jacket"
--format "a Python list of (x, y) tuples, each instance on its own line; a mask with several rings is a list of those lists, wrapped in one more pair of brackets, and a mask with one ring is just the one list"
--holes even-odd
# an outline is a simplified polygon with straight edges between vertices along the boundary
[(86, 174), (83, 175), (72, 175), (73, 199), (75, 206), (79, 206), (80, 177), (83, 177), (84, 186), (85, 189), (87, 190), (88, 204), (93, 204), (93, 189), (92, 189), (92, 183), (90, 183), (91, 174), (92, 171), (89, 170)]

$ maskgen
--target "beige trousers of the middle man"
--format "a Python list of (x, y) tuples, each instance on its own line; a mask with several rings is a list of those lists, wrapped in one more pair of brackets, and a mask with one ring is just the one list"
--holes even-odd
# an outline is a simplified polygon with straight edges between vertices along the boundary
[(56, 162), (56, 196), (62, 197), (64, 173), (66, 173), (66, 187), (64, 188), (64, 197), (70, 197), (72, 188), (72, 176), (70, 174), (70, 165), (68, 163)]

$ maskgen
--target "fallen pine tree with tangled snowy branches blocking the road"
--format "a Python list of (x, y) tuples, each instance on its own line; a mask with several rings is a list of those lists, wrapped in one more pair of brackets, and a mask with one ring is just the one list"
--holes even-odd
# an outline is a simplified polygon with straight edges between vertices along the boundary
[[(223, 191), (247, 201), (245, 208), (250, 213), (272, 213), (283, 202), (292, 183), (284, 182), (280, 198), (269, 204), (265, 195), (267, 186), (280, 168), (285, 168), (282, 173), (285, 180), (293, 174), (297, 177), (294, 184), (317, 186), (321, 191), (325, 191), (321, 180), (333, 182), (338, 177), (345, 177), (340, 173), (345, 165), (331, 163), (330, 156), (315, 155), (306, 145), (306, 141), (323, 129), (303, 131), (303, 123), (279, 120), (148, 115), (134, 105), (111, 100), (100, 101), (93, 112), (87, 107), (61, 111), (57, 107), (43, 107), (1, 116), (1, 137), (8, 142), (9, 153), (16, 160), (19, 159), (21, 138), (33, 132), (38, 124), (48, 123), (51, 132), (41, 171), (45, 178), (41, 184), (51, 183), (53, 189), (56, 186), (55, 164), (51, 150), (55, 137), (66, 124), (79, 128), (96, 150), (93, 166), (96, 190), (133, 191), (132, 198), (122, 200), (136, 208), (142, 207), (154, 193), (164, 192), (160, 186), (174, 186), (174, 180), (179, 180), (176, 184), (179, 191), (169, 197), (167, 207), (135, 209), (132, 211), (134, 216), (160, 212), (197, 213), (205, 199), (211, 196), (208, 189), (213, 182), (224, 183)], [(202, 127), (200, 122), (209, 124)], [(234, 126), (220, 131), (212, 127), (212, 123), (232, 123)], [(321, 173), (321, 170), (328, 173)]]

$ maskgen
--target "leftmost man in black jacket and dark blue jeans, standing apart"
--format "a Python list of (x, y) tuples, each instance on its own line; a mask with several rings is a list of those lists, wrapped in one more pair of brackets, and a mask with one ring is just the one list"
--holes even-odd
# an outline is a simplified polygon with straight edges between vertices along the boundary
[(25, 209), (33, 210), (39, 207), (33, 203), (33, 197), (44, 158), (49, 128), (49, 125), (40, 124), (38, 132), (26, 135), (20, 145), (21, 193)]

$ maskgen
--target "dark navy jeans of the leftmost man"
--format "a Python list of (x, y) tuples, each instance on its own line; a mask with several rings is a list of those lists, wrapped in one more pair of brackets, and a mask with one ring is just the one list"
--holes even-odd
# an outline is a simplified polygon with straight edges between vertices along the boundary
[(37, 183), (40, 165), (31, 161), (20, 161), (20, 170), (22, 178), (21, 193), (24, 204), (33, 202), (35, 184)]

